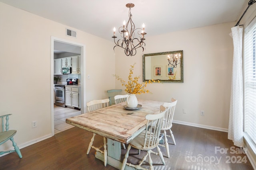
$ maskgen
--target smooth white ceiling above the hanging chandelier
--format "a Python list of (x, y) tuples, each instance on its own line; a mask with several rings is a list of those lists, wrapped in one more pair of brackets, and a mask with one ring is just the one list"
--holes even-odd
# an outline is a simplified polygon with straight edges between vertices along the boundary
[[(146, 36), (237, 21), (249, 0), (0, 0), (16, 8), (112, 41), (113, 27), (128, 21)], [(78, 35), (79, 36), (79, 35)], [(119, 38), (119, 36), (118, 36)]]

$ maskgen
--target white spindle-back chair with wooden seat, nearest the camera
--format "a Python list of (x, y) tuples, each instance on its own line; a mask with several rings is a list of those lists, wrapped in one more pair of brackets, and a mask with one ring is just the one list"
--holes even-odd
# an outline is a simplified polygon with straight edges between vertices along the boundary
[[(152, 158), (150, 156), (151, 153), (159, 155), (162, 163), (165, 165), (164, 157), (162, 155), (162, 152), (160, 148), (158, 147), (160, 138), (160, 131), (162, 127), (162, 123), (164, 120), (164, 114), (166, 113), (166, 109), (164, 106), (160, 106), (160, 113), (154, 113), (154, 114), (148, 114), (146, 115), (146, 119), (148, 120), (146, 124), (146, 129), (142, 131), (137, 137), (135, 137), (128, 145), (127, 152), (124, 155), (124, 160), (122, 163), (121, 170), (124, 170), (125, 166), (132, 166), (136, 169), (140, 170), (146, 170), (146, 168), (143, 168), (141, 165), (146, 160), (148, 156), (148, 162), (150, 164), (150, 170), (154, 170)], [(154, 122), (154, 125), (152, 125), (152, 122)], [(147, 151), (146, 155), (142, 158), (142, 160), (139, 162), (139, 164), (134, 165), (131, 163), (127, 163), (128, 157), (129, 157), (129, 151), (131, 147), (138, 149), (138, 150), (145, 150)], [(157, 148), (157, 153), (152, 151), (152, 149)]]

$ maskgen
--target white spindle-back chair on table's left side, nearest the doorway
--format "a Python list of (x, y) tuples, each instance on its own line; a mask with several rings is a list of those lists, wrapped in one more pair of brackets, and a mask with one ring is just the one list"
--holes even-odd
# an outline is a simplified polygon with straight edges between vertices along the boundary
[[(109, 99), (102, 99), (102, 100), (92, 100), (90, 102), (88, 102), (86, 104), (88, 111), (95, 111), (98, 109), (101, 109), (103, 107), (108, 107), (108, 102)], [(104, 154), (104, 166), (107, 166), (107, 156), (108, 156), (108, 152), (107, 152), (107, 141), (106, 141), (106, 137), (103, 137), (103, 145), (101, 145), (100, 147), (95, 147), (93, 146), (93, 141), (94, 141), (94, 137), (95, 137), (96, 133), (93, 133), (92, 135), (92, 139), (89, 143), (88, 149), (86, 154), (89, 154), (91, 148), (95, 149), (96, 151), (101, 152), (102, 154)], [(100, 150), (102, 147), (104, 147), (104, 150)]]

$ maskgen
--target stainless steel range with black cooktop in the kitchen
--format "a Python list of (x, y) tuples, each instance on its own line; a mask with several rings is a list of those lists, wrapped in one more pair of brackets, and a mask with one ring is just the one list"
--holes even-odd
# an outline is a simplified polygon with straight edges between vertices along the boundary
[(55, 84), (54, 92), (55, 92), (55, 105), (66, 107), (65, 106), (65, 86), (66, 85), (74, 85), (78, 84), (77, 78), (67, 78), (66, 84)]

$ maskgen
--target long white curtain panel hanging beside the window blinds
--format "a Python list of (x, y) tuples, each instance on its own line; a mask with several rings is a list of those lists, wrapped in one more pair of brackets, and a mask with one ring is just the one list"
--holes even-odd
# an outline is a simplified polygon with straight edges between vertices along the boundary
[(228, 139), (237, 147), (244, 146), (243, 140), (243, 73), (242, 73), (242, 35), (243, 27), (231, 28), (233, 37), (233, 68), (228, 123)]

